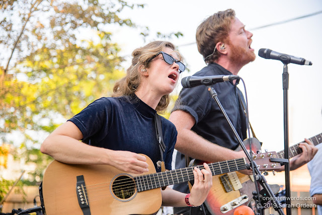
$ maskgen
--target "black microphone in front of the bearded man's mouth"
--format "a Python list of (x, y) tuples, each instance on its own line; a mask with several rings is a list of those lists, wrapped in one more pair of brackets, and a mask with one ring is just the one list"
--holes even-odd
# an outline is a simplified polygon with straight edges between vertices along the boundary
[(299, 65), (312, 65), (311, 61), (305, 60), (304, 58), (295, 57), (295, 56), (288, 55), (288, 54), (278, 53), (278, 52), (272, 51), (271, 49), (268, 49), (268, 48), (261, 48), (258, 51), (258, 55), (260, 57), (263, 57), (266, 59), (280, 60), (286, 64), (287, 63), (295, 63), (295, 64), (299, 64)]

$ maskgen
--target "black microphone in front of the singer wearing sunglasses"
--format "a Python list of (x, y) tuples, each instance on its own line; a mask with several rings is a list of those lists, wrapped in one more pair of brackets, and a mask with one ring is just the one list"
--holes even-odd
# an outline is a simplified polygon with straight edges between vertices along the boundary
[(235, 76), (235, 75), (204, 76), (204, 77), (188, 76), (181, 80), (181, 85), (184, 88), (192, 88), (192, 87), (197, 87), (199, 85), (206, 85), (206, 86), (214, 85), (218, 82), (227, 82), (235, 79), (239, 79), (239, 76)]

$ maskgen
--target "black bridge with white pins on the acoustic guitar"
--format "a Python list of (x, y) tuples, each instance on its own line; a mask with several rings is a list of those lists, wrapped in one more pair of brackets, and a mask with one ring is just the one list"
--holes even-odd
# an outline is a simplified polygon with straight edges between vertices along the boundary
[(87, 195), (87, 189), (85, 186), (85, 180), (83, 175), (76, 176), (76, 193), (78, 204), (82, 208), (84, 215), (91, 215), (89, 198)]

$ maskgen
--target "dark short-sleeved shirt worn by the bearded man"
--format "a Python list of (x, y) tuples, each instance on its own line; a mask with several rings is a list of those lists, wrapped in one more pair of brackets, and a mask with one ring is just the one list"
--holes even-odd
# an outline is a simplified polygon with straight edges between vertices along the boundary
[[(193, 76), (203, 77), (217, 75), (232, 74), (222, 66), (211, 63)], [(218, 100), (223, 106), (223, 109), (227, 113), (238, 135), (243, 140), (247, 136), (247, 126), (244, 109), (240, 103), (238, 94), (240, 94), (240, 98), (244, 104), (245, 101), (243, 94), (236, 86), (237, 84), (238, 80), (235, 85), (233, 85), (231, 81), (217, 83), (212, 87), (218, 94)], [(198, 135), (219, 146), (232, 150), (237, 148), (238, 140), (234, 136), (217, 103), (211, 98), (206, 86), (201, 85), (190, 89), (183, 88), (172, 111), (175, 110), (184, 110), (195, 118), (196, 124), (191, 130)], [(178, 152), (176, 157), (176, 169), (184, 168), (185, 165), (184, 155)], [(181, 192), (189, 192), (188, 186), (185, 183), (175, 185), (174, 189)]]

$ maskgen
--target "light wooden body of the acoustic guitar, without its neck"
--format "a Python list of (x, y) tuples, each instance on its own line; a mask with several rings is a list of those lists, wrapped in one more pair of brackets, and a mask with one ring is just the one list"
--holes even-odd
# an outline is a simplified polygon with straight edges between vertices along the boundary
[[(149, 167), (153, 167), (147, 174), (155, 173), (152, 161), (148, 157), (146, 160)], [(135, 174), (122, 173), (107, 165), (70, 165), (53, 161), (48, 166), (43, 178), (46, 214), (83, 215), (76, 193), (76, 176), (79, 175), (83, 175), (85, 179), (92, 215), (151, 214), (161, 206), (160, 188), (143, 192), (137, 192), (134, 189), (133, 193), (113, 192), (112, 185), (113, 183), (117, 184), (117, 178), (119, 180), (122, 180), (120, 177), (132, 178), (132, 176), (136, 176)], [(128, 183), (131, 184), (131, 182)], [(121, 191), (125, 191), (125, 189)]]

